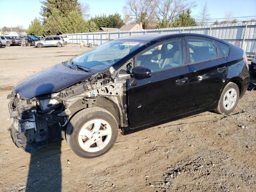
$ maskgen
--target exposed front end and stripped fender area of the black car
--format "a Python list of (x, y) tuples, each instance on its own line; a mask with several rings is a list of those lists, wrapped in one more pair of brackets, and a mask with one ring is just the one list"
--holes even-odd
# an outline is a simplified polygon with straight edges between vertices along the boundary
[(119, 127), (128, 126), (126, 80), (112, 78), (109, 70), (57, 93), (27, 99), (12, 91), (8, 99), (13, 142), (30, 153), (64, 139), (70, 118), (84, 108), (105, 108)]

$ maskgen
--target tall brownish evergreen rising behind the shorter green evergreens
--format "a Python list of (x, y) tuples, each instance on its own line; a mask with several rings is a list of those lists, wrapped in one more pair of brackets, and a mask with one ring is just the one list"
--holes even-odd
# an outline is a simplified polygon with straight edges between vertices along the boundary
[[(78, 0), (42, 0), (40, 14), (45, 18), (49, 18), (53, 14), (53, 10), (58, 10), (61, 17), (66, 17), (73, 10), (81, 12)], [(81, 12), (82, 14), (82, 12)]]

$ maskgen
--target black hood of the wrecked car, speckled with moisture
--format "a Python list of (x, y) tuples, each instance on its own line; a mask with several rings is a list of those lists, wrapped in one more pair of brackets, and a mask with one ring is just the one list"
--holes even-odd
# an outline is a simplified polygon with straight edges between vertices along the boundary
[(82, 70), (74, 70), (60, 63), (22, 80), (14, 87), (14, 91), (25, 98), (31, 99), (42, 94), (58, 92), (89, 78), (94, 73), (95, 71), (88, 73)]

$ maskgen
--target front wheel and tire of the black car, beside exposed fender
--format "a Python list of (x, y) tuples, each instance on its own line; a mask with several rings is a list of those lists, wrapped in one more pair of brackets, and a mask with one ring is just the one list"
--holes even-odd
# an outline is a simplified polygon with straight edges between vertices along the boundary
[(66, 130), (68, 145), (82, 158), (105, 154), (115, 144), (117, 136), (116, 119), (99, 107), (86, 108), (75, 114)]

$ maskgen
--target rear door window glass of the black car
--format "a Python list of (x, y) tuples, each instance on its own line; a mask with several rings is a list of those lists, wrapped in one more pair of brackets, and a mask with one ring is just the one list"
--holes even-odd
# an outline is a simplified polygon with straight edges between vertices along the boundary
[(188, 38), (190, 62), (201, 62), (217, 58), (217, 48), (212, 41)]

